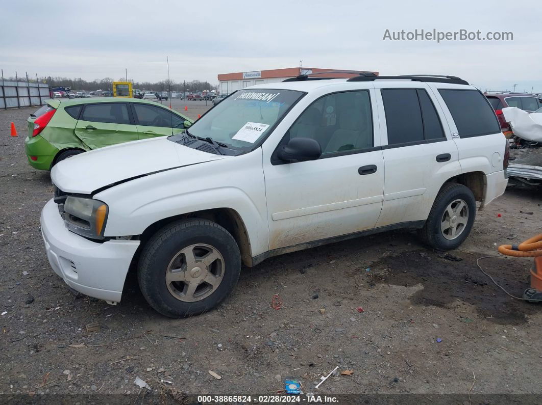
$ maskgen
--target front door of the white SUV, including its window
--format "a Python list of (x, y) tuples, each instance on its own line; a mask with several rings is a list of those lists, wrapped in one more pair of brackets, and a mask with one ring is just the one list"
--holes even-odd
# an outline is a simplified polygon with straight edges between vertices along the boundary
[(372, 115), (369, 90), (321, 97), (299, 116), (281, 145), (293, 137), (313, 138), (322, 156), (263, 163), (270, 250), (375, 226), (382, 208), (384, 159), (375, 144)]

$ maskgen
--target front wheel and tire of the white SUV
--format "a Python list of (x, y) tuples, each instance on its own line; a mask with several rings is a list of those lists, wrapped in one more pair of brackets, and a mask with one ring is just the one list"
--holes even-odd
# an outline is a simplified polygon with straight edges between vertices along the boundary
[(141, 293), (160, 314), (180, 318), (220, 304), (237, 283), (241, 254), (233, 236), (201, 219), (159, 230), (141, 252)]

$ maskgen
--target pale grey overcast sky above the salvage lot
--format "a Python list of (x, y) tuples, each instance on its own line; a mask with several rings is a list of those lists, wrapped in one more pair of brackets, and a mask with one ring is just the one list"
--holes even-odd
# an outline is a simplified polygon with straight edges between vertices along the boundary
[[(25, 1), (0, 8), (0, 68), (29, 76), (207, 80), (288, 68), (460, 76), (542, 92), (536, 1)], [(384, 41), (390, 31), (511, 31), (513, 41)]]

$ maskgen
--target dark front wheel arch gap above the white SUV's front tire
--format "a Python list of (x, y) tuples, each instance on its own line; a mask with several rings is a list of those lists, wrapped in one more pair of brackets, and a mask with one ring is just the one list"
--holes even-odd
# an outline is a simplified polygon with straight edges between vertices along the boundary
[(241, 218), (241, 215), (232, 208), (212, 208), (201, 211), (192, 211), (191, 213), (185, 213), (175, 215), (162, 220), (156, 221), (149, 225), (139, 239), (141, 241), (141, 247), (143, 247), (147, 241), (154, 235), (160, 228), (165, 225), (179, 220), (185, 220), (188, 218), (202, 218), (221, 225), (227, 230), (231, 236), (234, 237), (239, 251), (241, 253), (241, 261), (248, 267), (253, 266), (252, 249), (250, 247), (250, 239), (248, 236), (247, 228)]

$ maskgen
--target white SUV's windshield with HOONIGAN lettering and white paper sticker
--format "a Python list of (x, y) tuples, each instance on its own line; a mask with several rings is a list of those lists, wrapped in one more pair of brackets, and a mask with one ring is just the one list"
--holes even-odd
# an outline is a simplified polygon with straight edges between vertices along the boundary
[(302, 95), (282, 89), (238, 91), (192, 124), (190, 135), (251, 150)]

